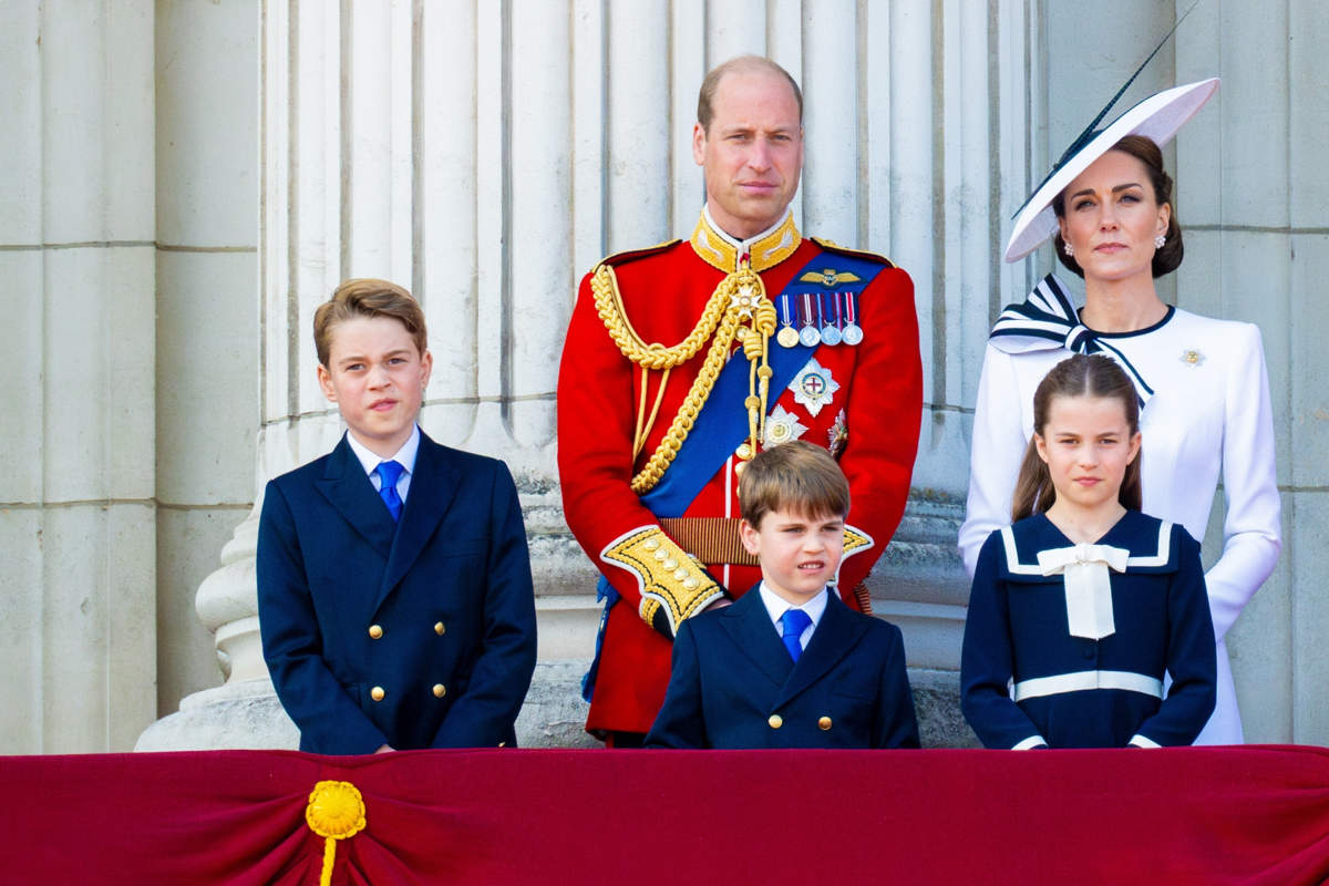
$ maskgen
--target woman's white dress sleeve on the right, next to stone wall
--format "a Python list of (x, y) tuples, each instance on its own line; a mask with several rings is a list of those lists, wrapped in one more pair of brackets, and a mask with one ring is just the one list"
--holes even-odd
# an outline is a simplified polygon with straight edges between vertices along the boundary
[(1282, 547), (1273, 410), (1259, 327), (1241, 324), (1237, 348), (1241, 356), (1232, 364), (1224, 402), (1223, 555), (1205, 575), (1219, 640), (1269, 578)]

